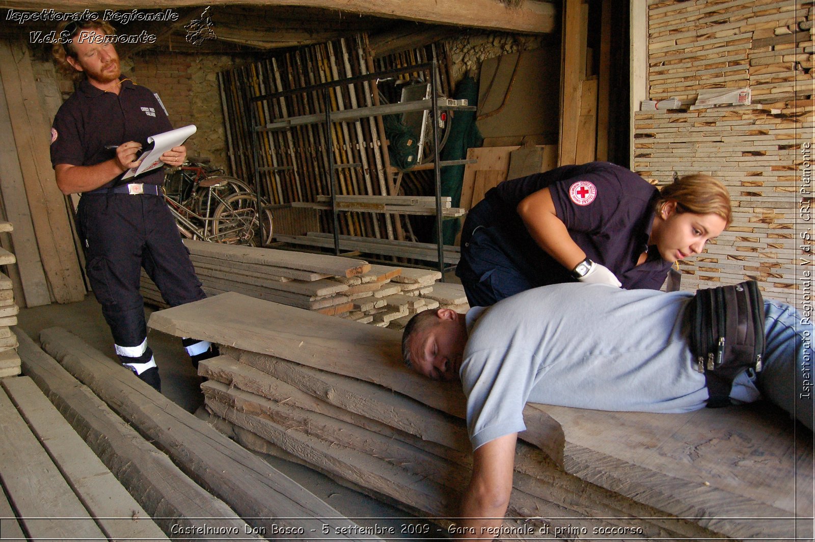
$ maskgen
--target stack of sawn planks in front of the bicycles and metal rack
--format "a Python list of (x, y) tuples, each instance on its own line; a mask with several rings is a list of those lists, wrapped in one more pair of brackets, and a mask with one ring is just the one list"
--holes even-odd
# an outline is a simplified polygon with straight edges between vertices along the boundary
[[(442, 278), (438, 271), (372, 266), (353, 258), (196, 240), (184, 240), (184, 244), (209, 295), (238, 292), (393, 328), (403, 328), (416, 312), (437, 306), (457, 311), (469, 308), (460, 285), (436, 282)], [(141, 291), (148, 302), (166, 306), (146, 274)]]

